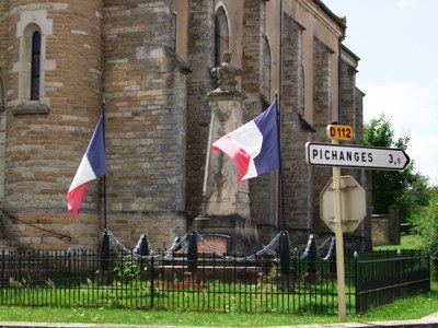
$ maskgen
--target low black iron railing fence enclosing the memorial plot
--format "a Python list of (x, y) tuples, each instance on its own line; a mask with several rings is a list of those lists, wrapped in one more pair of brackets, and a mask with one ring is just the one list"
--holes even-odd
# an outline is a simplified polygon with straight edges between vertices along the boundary
[[(346, 256), (345, 268), (350, 314), (430, 286), (429, 256), (420, 251)], [(336, 314), (336, 266), (309, 254), (2, 250), (0, 305)]]

